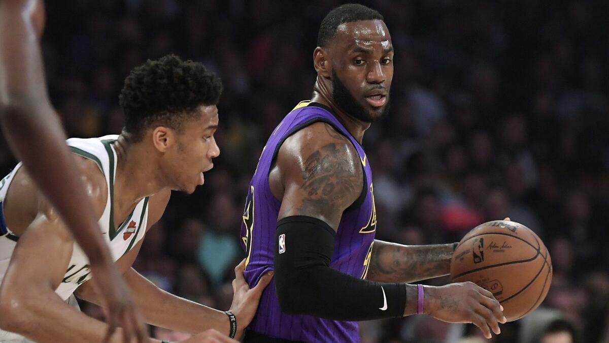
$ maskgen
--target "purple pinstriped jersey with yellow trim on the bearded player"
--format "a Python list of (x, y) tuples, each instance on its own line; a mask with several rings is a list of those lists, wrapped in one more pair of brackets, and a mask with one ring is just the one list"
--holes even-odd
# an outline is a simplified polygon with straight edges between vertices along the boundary
[[(241, 243), (247, 254), (245, 279), (252, 287), (258, 283), (264, 273), (273, 269), (275, 230), (281, 207), (281, 202), (273, 196), (269, 187), (269, 171), (273, 161), (281, 144), (290, 135), (319, 121), (333, 126), (351, 141), (359, 154), (364, 170), (364, 187), (361, 196), (343, 212), (336, 231), (330, 267), (357, 278), (366, 276), (376, 231), (370, 164), (362, 146), (334, 117), (328, 107), (303, 101), (286, 115), (273, 131), (262, 151), (250, 183), (241, 225)], [(280, 248), (289, 249), (289, 242), (285, 243), (285, 247), (280, 246)], [(248, 330), (272, 338), (297, 342), (359, 342), (356, 322), (340, 322), (283, 313), (275, 293), (274, 280), (264, 289), (258, 312)]]

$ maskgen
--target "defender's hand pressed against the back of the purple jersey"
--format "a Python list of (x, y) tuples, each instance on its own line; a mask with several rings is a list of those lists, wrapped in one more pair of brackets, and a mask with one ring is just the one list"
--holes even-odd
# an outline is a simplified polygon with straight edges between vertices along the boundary
[(234, 267), (234, 280), (233, 280), (233, 303), (230, 306), (231, 312), (237, 317), (237, 335), (236, 338), (241, 337), (243, 330), (247, 325), (252, 322), (258, 309), (258, 303), (262, 296), (262, 291), (268, 286), (270, 280), (273, 278), (273, 271), (267, 272), (262, 275), (258, 284), (250, 289), (250, 286), (245, 281), (243, 271), (245, 270), (245, 259)]

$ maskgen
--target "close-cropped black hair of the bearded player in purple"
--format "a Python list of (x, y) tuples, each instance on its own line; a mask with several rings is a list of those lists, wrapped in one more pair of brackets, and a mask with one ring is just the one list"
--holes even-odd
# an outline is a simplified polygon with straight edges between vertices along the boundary
[(322, 20), (317, 33), (317, 46), (325, 46), (336, 34), (340, 24), (362, 20), (385, 20), (381, 13), (360, 4), (345, 4), (331, 10)]

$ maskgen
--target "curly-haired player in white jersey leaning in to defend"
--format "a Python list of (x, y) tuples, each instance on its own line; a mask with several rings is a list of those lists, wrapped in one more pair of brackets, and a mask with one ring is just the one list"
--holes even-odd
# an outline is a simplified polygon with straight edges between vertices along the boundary
[[(243, 265), (238, 266), (231, 314), (164, 292), (131, 268), (171, 190), (192, 193), (220, 153), (214, 132), (221, 87), (200, 63), (176, 56), (149, 60), (125, 79), (120, 135), (68, 140), (99, 218), (100, 236), (146, 322), (193, 334), (216, 330), (189, 343), (236, 342), (227, 335), (239, 336), (252, 320), (271, 277), (265, 275), (249, 289)], [(5, 330), (0, 342), (21, 339), (13, 333), (36, 342), (101, 342), (107, 325), (65, 302), (76, 291), (83, 300), (100, 303), (87, 281), (90, 262), (21, 164), (0, 182), (0, 201), (0, 223), (7, 233), (0, 237), (0, 262), (10, 259), (8, 269), (0, 269), (0, 328)], [(110, 337), (110, 342), (121, 341), (121, 332)]]

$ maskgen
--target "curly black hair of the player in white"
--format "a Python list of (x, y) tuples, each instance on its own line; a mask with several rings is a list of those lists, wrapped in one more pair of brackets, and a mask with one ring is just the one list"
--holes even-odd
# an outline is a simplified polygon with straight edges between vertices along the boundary
[(173, 54), (147, 60), (131, 71), (119, 95), (124, 131), (132, 142), (139, 142), (152, 125), (179, 130), (197, 107), (217, 104), (221, 94), (220, 78), (202, 63)]

